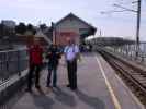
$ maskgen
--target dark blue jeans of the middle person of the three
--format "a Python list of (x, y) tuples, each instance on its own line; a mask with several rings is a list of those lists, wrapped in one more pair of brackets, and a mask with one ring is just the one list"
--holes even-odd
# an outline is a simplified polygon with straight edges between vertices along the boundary
[(50, 85), (50, 77), (53, 73), (53, 86), (56, 87), (57, 83), (57, 65), (50, 65), (48, 64), (48, 75), (47, 75), (47, 86)]

